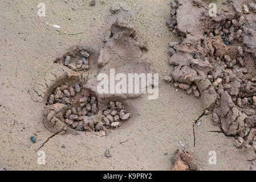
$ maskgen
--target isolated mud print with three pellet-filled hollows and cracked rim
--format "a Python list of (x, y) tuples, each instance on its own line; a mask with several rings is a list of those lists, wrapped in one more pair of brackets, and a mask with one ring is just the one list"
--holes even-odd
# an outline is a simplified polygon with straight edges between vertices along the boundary
[(78, 130), (105, 135), (105, 131), (121, 126), (135, 111), (128, 100), (141, 93), (99, 93), (101, 80), (97, 80), (97, 75), (108, 76), (113, 68), (127, 76), (151, 73), (149, 61), (141, 59), (147, 44), (137, 38), (134, 26), (119, 19), (106, 32), (103, 47), (82, 42), (68, 48), (31, 86), (32, 100), (46, 105), (43, 122), (52, 133)]

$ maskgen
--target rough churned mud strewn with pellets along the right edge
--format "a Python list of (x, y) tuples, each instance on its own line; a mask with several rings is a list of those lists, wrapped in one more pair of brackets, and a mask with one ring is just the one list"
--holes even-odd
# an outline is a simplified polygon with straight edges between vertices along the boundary
[(237, 147), (256, 149), (255, 1), (224, 2), (213, 17), (208, 1), (171, 5), (167, 24), (181, 41), (170, 43), (173, 70), (165, 80), (201, 97), (204, 114), (213, 113), (213, 122), (237, 138)]

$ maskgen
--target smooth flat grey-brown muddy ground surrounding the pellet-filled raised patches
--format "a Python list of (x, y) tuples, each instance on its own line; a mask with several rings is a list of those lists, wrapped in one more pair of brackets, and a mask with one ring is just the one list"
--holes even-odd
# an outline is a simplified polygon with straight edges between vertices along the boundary
[[(43, 1), (46, 17), (37, 15), (41, 1), (1, 1), (0, 46), (0, 169), (170, 170), (177, 148), (193, 152), (201, 170), (255, 169), (255, 152), (235, 147), (235, 139), (204, 117), (201, 98), (166, 84), (168, 43), (177, 40), (166, 27), (170, 1)], [(111, 6), (124, 10), (113, 15)], [(43, 125), (45, 104), (32, 100), (30, 89), (39, 75), (53, 67), (59, 52), (86, 40), (100, 48), (109, 22), (121, 17), (137, 27), (148, 43), (143, 53), (159, 73), (159, 98), (143, 94), (130, 100), (133, 116), (105, 137), (74, 131), (54, 135)], [(61, 28), (49, 26), (58, 24)], [(200, 118), (201, 125), (193, 124)], [(36, 137), (33, 143), (30, 137)], [(46, 152), (46, 164), (37, 163), (36, 150)], [(108, 149), (110, 157), (105, 156)], [(217, 164), (210, 165), (209, 152)]]

